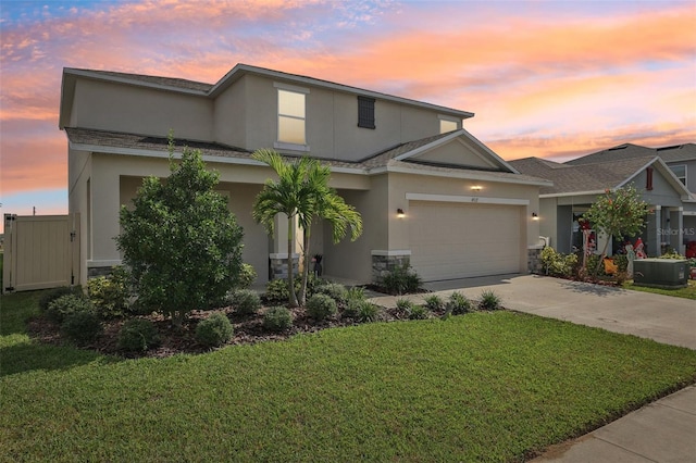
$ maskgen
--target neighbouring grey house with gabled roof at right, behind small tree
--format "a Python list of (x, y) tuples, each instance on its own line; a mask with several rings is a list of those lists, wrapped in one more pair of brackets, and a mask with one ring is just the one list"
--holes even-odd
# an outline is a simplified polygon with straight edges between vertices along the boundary
[[(597, 196), (629, 184), (652, 211), (641, 235), (648, 255), (660, 255), (668, 249), (684, 253), (688, 242), (696, 240), (696, 178), (687, 175), (689, 171), (696, 174), (694, 143), (658, 149), (621, 145), (566, 163), (525, 158), (510, 164), (521, 173), (554, 183), (540, 190), (540, 234), (560, 252), (582, 246), (577, 218)], [(635, 241), (637, 237), (630, 238)], [(598, 239), (600, 251), (606, 238)], [(609, 252), (621, 251), (621, 245), (612, 242)]]

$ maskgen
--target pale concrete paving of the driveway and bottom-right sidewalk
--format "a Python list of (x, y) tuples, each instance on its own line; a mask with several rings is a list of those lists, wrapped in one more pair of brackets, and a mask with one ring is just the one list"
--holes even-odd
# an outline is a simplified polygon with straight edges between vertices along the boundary
[[(688, 299), (537, 275), (504, 275), (424, 285), (444, 298), (459, 291), (480, 299), (493, 290), (507, 309), (564, 320), (696, 350), (696, 302)], [(409, 299), (420, 302), (427, 295)], [(373, 302), (395, 306), (395, 297)], [(696, 463), (696, 387), (650, 403), (580, 439), (549, 449), (534, 462)]]

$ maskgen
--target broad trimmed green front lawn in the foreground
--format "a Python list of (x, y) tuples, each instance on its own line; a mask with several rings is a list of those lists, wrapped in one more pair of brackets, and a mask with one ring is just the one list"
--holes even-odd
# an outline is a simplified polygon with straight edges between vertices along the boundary
[(121, 360), (2, 298), (7, 461), (522, 461), (696, 380), (696, 351), (507, 311)]

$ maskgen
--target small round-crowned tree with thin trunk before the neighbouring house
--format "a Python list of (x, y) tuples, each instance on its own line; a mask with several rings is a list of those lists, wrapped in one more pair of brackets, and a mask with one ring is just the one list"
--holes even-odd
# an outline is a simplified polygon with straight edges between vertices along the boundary
[[(589, 221), (595, 229), (607, 236), (607, 242), (601, 250), (601, 258), (605, 258), (611, 236), (621, 241), (624, 237), (638, 235), (645, 228), (648, 212), (648, 203), (641, 199), (633, 185), (629, 185), (614, 191), (605, 190), (605, 195), (597, 197), (589, 210), (583, 214), (583, 220)], [(601, 263), (602, 259), (599, 259), (595, 274)]]

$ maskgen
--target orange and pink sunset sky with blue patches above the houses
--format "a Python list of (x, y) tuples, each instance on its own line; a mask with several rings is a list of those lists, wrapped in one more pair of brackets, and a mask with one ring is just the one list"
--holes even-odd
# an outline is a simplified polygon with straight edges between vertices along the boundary
[(696, 141), (695, 25), (696, 0), (0, 0), (0, 211), (67, 212), (63, 67), (252, 64), (471, 111), (502, 159), (564, 161)]

